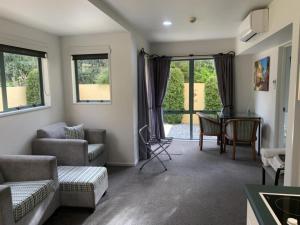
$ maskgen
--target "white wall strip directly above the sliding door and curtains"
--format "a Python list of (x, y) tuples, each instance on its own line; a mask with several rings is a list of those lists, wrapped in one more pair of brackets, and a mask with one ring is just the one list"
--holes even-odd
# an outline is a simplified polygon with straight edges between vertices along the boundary
[(234, 51), (235, 39), (215, 39), (181, 42), (150, 43), (150, 50), (159, 55), (217, 54)]

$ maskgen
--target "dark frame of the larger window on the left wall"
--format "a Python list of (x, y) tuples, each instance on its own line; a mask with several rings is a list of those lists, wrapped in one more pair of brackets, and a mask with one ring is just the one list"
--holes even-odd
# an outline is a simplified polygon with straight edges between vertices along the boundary
[[(24, 106), (12, 107), (12, 108), (8, 107), (4, 53), (25, 55), (25, 56), (37, 58), (38, 60), (37, 69), (39, 71), (39, 84), (40, 84), (40, 96), (41, 96), (40, 104), (24, 105)], [(46, 56), (47, 56), (46, 52), (0, 44), (0, 81), (1, 81), (0, 87), (2, 89), (2, 99), (0, 100), (2, 101), (2, 106), (3, 106), (3, 111), (0, 111), (0, 115), (9, 112), (18, 112), (23, 109), (33, 109), (33, 108), (45, 106), (42, 58), (46, 58)]]

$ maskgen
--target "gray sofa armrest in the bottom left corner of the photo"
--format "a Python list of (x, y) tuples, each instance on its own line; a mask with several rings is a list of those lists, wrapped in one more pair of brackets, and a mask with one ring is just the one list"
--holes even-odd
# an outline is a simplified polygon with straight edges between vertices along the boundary
[(13, 218), (11, 190), (9, 186), (0, 185), (0, 224), (15, 224)]

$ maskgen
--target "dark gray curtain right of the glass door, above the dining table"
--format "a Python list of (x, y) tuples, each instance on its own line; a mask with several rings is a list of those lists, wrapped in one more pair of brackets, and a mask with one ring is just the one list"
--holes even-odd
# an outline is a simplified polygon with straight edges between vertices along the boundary
[(234, 53), (214, 55), (222, 112), (233, 113)]

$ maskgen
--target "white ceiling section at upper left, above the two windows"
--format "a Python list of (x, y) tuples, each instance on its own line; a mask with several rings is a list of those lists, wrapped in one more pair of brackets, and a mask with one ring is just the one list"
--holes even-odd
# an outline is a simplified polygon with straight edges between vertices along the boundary
[(57, 35), (124, 31), (88, 0), (0, 0), (0, 17)]

